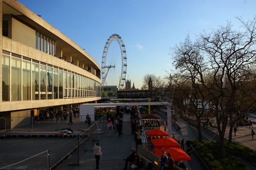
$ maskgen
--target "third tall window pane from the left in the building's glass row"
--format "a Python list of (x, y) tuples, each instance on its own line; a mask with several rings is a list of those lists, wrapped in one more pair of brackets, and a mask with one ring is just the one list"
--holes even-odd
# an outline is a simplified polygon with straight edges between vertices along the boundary
[(22, 99), (31, 100), (31, 62), (23, 60), (22, 62)]

